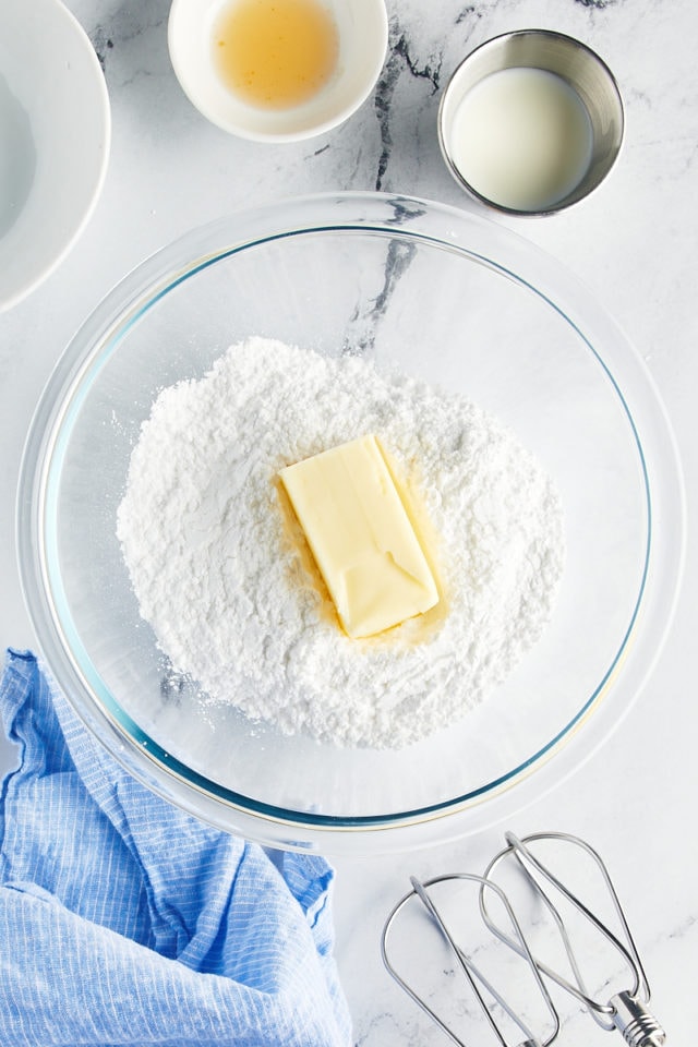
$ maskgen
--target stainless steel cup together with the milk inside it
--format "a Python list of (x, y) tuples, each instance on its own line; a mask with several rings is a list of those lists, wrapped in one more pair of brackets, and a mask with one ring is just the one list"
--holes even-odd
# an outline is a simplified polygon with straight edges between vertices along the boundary
[(550, 29), (494, 37), (455, 70), (438, 111), (444, 159), (482, 203), (549, 215), (597, 189), (623, 142), (623, 100), (585, 44)]

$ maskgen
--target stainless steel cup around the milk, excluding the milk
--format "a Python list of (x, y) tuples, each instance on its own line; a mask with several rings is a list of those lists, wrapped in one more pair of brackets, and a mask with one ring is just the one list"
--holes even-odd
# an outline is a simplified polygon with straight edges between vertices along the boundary
[[(465, 96), (485, 76), (505, 69), (533, 68), (555, 73), (579, 96), (591, 123), (591, 158), (577, 185), (562, 200), (534, 210), (520, 210), (490, 200), (470, 185), (454, 163), (454, 117)], [(458, 183), (490, 207), (516, 215), (546, 215), (577, 203), (606, 177), (615, 164), (625, 130), (623, 99), (613, 73), (586, 44), (549, 29), (520, 29), (481, 44), (452, 75), (438, 109), (438, 141)]]

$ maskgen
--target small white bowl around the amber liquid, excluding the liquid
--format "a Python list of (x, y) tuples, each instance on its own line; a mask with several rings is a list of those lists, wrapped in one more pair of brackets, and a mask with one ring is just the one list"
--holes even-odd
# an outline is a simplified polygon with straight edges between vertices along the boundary
[(322, 0), (337, 25), (337, 65), (309, 100), (284, 109), (250, 105), (215, 69), (214, 26), (229, 4), (230, 0), (173, 0), (168, 25), (170, 59), (184, 94), (224, 131), (257, 142), (298, 142), (342, 123), (373, 91), (387, 49), (384, 0)]

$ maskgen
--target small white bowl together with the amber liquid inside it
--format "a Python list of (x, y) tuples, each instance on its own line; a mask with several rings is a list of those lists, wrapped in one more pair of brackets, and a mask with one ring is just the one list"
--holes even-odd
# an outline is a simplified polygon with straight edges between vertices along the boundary
[(387, 51), (385, 0), (172, 0), (172, 69), (229, 134), (299, 142), (366, 100)]

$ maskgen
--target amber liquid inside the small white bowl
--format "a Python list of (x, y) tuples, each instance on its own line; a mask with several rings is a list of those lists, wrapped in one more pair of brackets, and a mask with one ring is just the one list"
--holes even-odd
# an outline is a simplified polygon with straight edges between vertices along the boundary
[(214, 62), (250, 105), (288, 109), (329, 81), (339, 34), (321, 0), (233, 0), (214, 25)]

